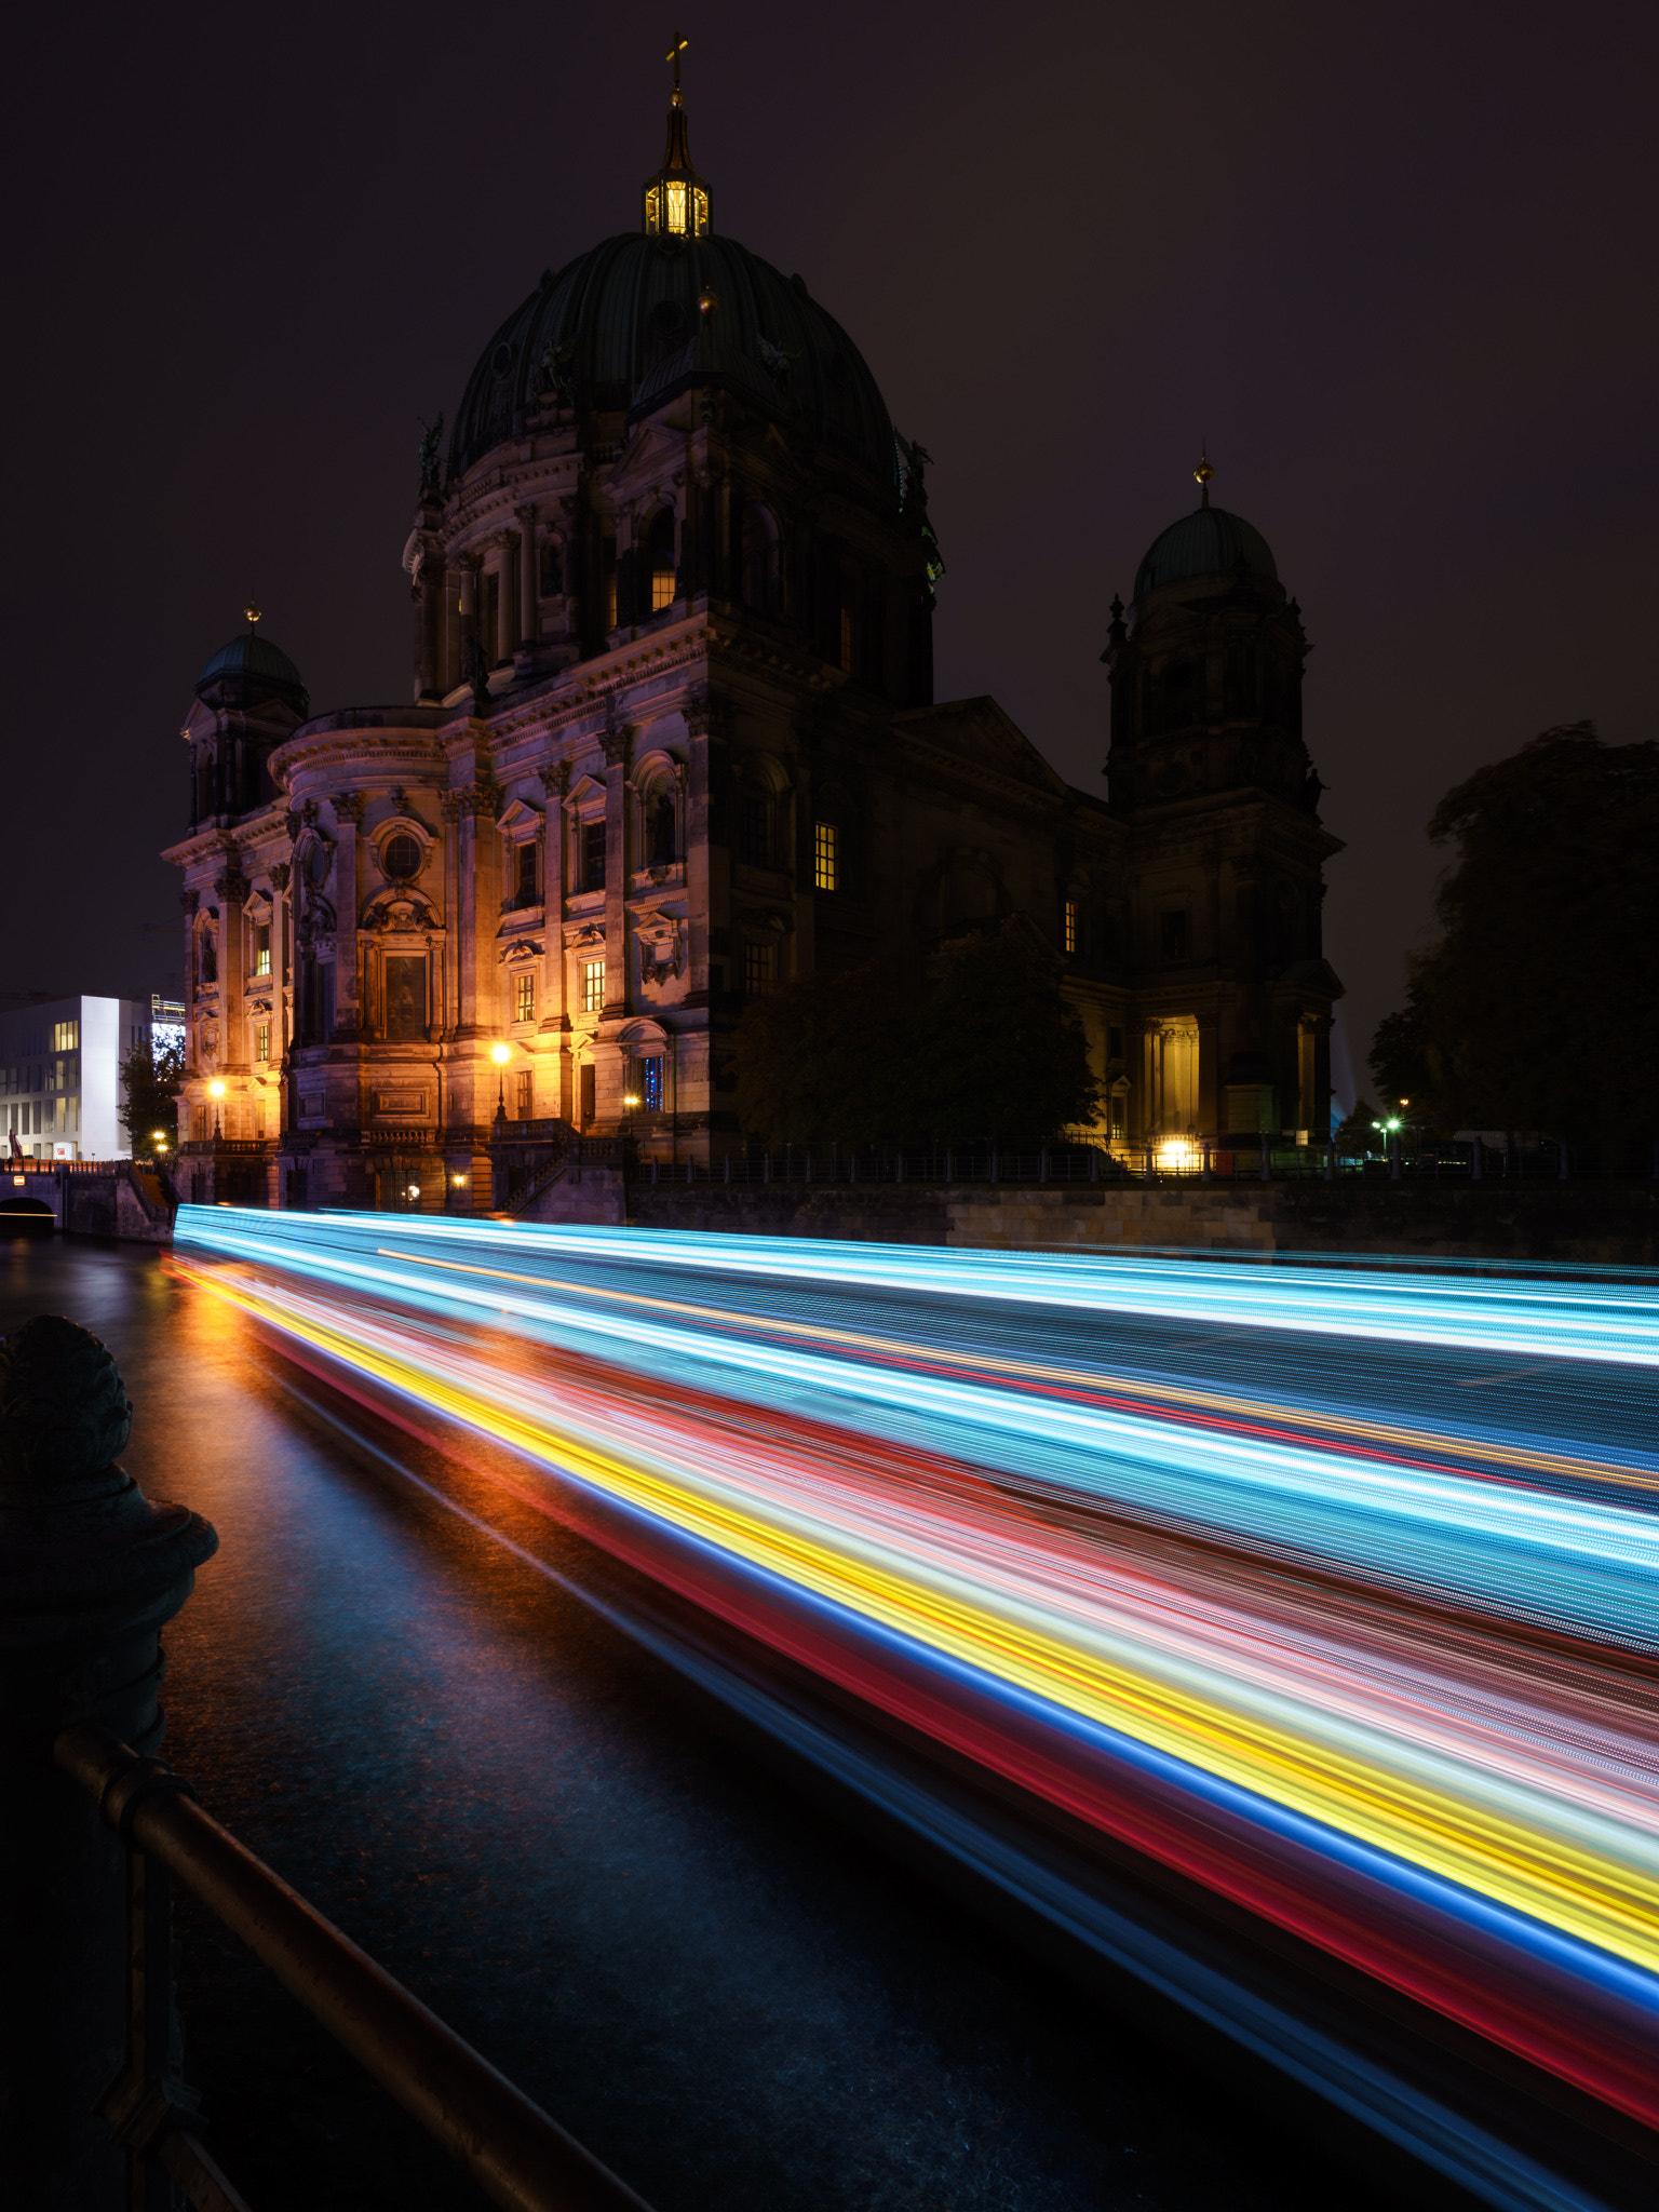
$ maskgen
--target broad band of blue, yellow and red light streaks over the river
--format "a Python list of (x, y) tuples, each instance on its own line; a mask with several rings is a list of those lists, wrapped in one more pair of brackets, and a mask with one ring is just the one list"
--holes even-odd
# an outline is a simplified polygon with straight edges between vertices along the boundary
[[(1659, 2128), (1650, 1283), (226, 1208), (175, 1239), (706, 1610)], [(1201, 1323), (1190, 1376), (1135, 1374), (1115, 1316)], [(1201, 1369), (1241, 1329), (1301, 1347), (1239, 1391)], [(1343, 1405), (1310, 1336), (1385, 1400), (1427, 1345), (1593, 1363), (1597, 1442)]]

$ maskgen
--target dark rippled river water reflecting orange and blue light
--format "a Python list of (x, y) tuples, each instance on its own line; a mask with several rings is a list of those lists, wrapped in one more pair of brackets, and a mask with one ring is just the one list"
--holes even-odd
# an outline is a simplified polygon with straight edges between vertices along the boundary
[[(38, 1312), (104, 1338), (126, 1467), (219, 1531), (166, 1754), (659, 2212), (1398, 2201), (796, 1787), (538, 1571), (582, 1584), (580, 1540), (352, 1442), (153, 1252), (0, 1241), (0, 1332)], [(190, 2075), (254, 2212), (482, 2201), (188, 1900), (179, 1927)]]

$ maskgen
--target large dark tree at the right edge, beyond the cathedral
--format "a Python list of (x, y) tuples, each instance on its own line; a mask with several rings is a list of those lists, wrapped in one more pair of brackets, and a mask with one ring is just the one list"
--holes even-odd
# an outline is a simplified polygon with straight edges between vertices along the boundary
[(1371, 1044), (1385, 1097), (1442, 1128), (1659, 1130), (1659, 743), (1544, 730), (1433, 812), (1440, 938)]

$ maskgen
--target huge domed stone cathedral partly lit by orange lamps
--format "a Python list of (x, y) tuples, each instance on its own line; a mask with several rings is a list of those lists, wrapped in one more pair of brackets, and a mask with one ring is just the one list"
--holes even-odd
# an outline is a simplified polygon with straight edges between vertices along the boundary
[(675, 88), (639, 228), (546, 272), (422, 440), (409, 703), (312, 714), (254, 611), (197, 681), (186, 1194), (482, 1208), (502, 1124), (719, 1157), (748, 998), (872, 958), (920, 989), (1015, 914), (1097, 1141), (1323, 1137), (1307, 641), (1208, 476), (1113, 604), (1099, 794), (938, 703), (927, 453), (714, 230)]

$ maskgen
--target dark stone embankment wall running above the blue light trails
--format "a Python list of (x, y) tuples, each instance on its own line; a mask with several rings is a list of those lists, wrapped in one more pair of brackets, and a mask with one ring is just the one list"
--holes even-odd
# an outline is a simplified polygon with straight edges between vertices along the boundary
[[(549, 1210), (542, 1219), (593, 1214)], [(611, 1219), (622, 1219), (619, 1203)], [(626, 1219), (637, 1228), (1009, 1252), (1073, 1245), (1659, 1263), (1659, 1183), (1004, 1183), (991, 1190), (639, 1181), (628, 1188)]]

